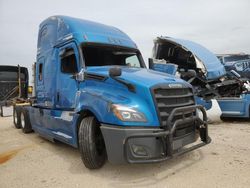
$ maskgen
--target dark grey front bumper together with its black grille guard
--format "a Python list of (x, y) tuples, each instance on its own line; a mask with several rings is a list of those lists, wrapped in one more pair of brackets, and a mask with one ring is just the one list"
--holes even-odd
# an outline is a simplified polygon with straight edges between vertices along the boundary
[[(198, 115), (175, 120), (175, 114), (199, 109)], [(194, 131), (179, 137), (174, 136), (179, 125), (195, 122)], [(186, 152), (200, 148), (211, 142), (208, 136), (207, 115), (200, 105), (175, 108), (168, 117), (168, 126), (163, 128), (128, 128), (102, 124), (108, 160), (111, 163), (153, 163), (168, 160)], [(200, 142), (196, 143), (197, 136)], [(192, 144), (194, 143), (195, 144)], [(192, 144), (190, 147), (184, 147)], [(139, 152), (138, 152), (139, 151)]]

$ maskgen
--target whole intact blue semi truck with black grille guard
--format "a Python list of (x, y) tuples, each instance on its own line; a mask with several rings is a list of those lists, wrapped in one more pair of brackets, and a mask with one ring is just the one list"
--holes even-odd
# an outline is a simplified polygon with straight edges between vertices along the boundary
[(14, 106), (16, 128), (79, 148), (89, 169), (106, 158), (160, 162), (211, 141), (189, 83), (147, 69), (125, 33), (87, 20), (40, 24), (31, 101)]

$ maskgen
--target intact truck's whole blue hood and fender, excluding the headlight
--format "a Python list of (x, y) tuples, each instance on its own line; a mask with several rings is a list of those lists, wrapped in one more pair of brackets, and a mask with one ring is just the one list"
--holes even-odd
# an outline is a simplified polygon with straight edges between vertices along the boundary
[[(89, 67), (88, 73), (99, 73), (108, 76), (110, 67)], [(192, 87), (187, 82), (174, 76), (142, 68), (122, 68), (119, 77), (135, 86), (136, 93), (119, 82), (108, 78), (105, 82), (86, 80), (80, 84), (81, 93), (77, 97), (77, 110), (88, 109), (93, 112), (100, 122), (120, 126), (159, 126), (159, 120), (153, 102), (150, 88), (163, 83), (181, 83)], [(134, 107), (147, 117), (147, 122), (122, 122), (110, 111), (109, 104), (123, 104)]]

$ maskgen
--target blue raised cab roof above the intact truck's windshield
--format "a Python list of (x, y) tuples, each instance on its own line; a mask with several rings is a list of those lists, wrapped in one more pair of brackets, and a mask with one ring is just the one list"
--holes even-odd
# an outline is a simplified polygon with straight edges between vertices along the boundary
[(38, 50), (52, 48), (70, 39), (137, 48), (127, 34), (113, 26), (68, 16), (51, 16), (39, 26)]

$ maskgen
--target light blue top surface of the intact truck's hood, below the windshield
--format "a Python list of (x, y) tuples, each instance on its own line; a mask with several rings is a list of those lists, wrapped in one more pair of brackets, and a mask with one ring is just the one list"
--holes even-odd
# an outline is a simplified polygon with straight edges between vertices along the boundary
[[(109, 69), (112, 67), (114, 66), (88, 67), (87, 73), (100, 74), (108, 77)], [(150, 88), (152, 86), (164, 83), (182, 83), (186, 87), (192, 87), (190, 84), (183, 81), (182, 79), (176, 78), (166, 73), (161, 73), (146, 68), (133, 68), (123, 66), (120, 66), (120, 68), (122, 69), (122, 75), (117, 78), (127, 81), (135, 86), (141, 85)]]

